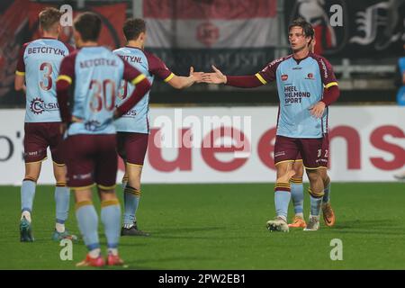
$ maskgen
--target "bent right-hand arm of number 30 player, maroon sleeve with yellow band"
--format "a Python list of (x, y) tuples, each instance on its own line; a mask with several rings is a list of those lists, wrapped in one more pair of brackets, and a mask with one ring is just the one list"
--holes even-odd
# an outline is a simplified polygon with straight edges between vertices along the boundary
[(130, 98), (121, 104), (121, 106), (117, 107), (117, 110), (114, 113), (114, 118), (120, 118), (126, 112), (129, 112), (130, 109), (135, 106), (142, 97), (148, 92), (150, 89), (150, 83), (147, 77), (140, 73), (136, 68), (131, 67), (130, 64), (122, 60), (124, 63), (124, 72), (122, 78), (127, 80), (130, 84), (136, 85), (136, 89), (130, 94)]

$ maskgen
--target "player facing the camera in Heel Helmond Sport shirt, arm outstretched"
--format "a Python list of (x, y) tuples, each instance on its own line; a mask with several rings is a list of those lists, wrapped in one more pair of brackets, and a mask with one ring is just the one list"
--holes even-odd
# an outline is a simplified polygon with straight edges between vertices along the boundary
[(252, 88), (276, 81), (280, 99), (275, 139), (275, 220), (268, 220), (267, 229), (288, 231), (287, 211), (291, 198), (290, 179), (295, 172), (293, 162), (300, 153), (310, 179), (311, 214), (304, 230), (320, 227), (320, 206), (325, 187), (329, 159), (328, 107), (340, 94), (338, 82), (329, 62), (310, 51), (313, 29), (302, 18), (289, 26), (293, 55), (275, 59), (254, 76), (224, 76), (214, 73), (202, 76), (206, 83)]

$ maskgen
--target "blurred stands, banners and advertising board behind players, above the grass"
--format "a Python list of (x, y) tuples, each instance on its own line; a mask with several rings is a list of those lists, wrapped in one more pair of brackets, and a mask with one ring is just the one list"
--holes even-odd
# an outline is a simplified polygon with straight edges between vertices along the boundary
[[(211, 71), (212, 64), (224, 74), (255, 74), (274, 58), (289, 53), (288, 23), (297, 16), (306, 18), (316, 30), (316, 52), (332, 63), (341, 89), (338, 103), (330, 109), (333, 179), (394, 181), (393, 175), (401, 174), (405, 110), (397, 104), (395, 81), (400, 78), (401, 82), (396, 66), (404, 53), (404, 1), (17, 0), (0, 4), (0, 118), (9, 123), (2, 124), (0, 133), (0, 184), (19, 183), (22, 173), (15, 171), (23, 171), (24, 96), (13, 88), (18, 49), (39, 37), (39, 11), (62, 4), (70, 4), (74, 14), (85, 10), (100, 14), (101, 42), (111, 49), (125, 44), (121, 26), (127, 17), (145, 18), (146, 49), (177, 75), (188, 75), (190, 66)], [(341, 14), (332, 7), (336, 4)], [(60, 38), (72, 42), (71, 28), (65, 28)], [(182, 121), (174, 132), (190, 127), (185, 124), (189, 115), (201, 121), (204, 115), (251, 117), (252, 129), (247, 131), (251, 154), (234, 158), (220, 149), (160, 150), (150, 145), (144, 182), (267, 182), (274, 178), (275, 84), (248, 90), (193, 85), (178, 91), (156, 80), (150, 102), (152, 133), (157, 132), (154, 125), (161, 115), (173, 123)], [(182, 110), (175, 111), (176, 107)], [(192, 130), (198, 133), (195, 127)], [(207, 132), (210, 129), (204, 127), (201, 137)], [(45, 167), (40, 179), (53, 183), (50, 167)]]

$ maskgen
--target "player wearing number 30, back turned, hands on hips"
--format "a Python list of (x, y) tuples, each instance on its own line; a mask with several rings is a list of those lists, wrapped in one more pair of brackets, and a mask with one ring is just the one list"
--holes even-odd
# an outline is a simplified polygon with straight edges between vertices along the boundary
[[(63, 125), (67, 129), (67, 185), (75, 191), (76, 219), (88, 253), (77, 266), (103, 266), (98, 238), (98, 216), (92, 202), (97, 184), (101, 198), (101, 220), (107, 239), (109, 266), (121, 266), (118, 254), (121, 207), (115, 195), (117, 175), (116, 138), (113, 119), (138, 103), (150, 88), (145, 75), (128, 62), (98, 45), (102, 28), (97, 14), (76, 17), (74, 37), (78, 49), (60, 66), (57, 91)], [(118, 108), (115, 98), (121, 80), (137, 88)], [(73, 97), (69, 96), (69, 89)]]

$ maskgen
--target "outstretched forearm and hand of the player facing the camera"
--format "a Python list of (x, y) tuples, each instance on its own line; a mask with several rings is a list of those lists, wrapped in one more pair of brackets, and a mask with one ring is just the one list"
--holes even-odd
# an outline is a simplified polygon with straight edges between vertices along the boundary
[(225, 84), (239, 88), (254, 88), (266, 85), (268, 81), (273, 81), (275, 76), (268, 73), (268, 66), (255, 75), (249, 76), (225, 76), (220, 69), (212, 65), (213, 73), (204, 73), (202, 82), (208, 84)]

